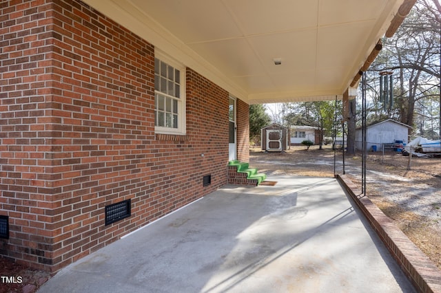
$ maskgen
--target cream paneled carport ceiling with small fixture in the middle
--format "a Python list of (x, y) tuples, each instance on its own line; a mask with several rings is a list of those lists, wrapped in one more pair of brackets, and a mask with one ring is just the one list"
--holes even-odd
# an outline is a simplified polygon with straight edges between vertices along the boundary
[(402, 2), (85, 0), (250, 104), (340, 98)]

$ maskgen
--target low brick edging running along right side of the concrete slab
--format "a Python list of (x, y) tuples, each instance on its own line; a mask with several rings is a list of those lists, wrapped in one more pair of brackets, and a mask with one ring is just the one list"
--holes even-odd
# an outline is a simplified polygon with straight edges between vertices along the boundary
[(346, 175), (336, 175), (418, 292), (441, 292), (441, 270)]

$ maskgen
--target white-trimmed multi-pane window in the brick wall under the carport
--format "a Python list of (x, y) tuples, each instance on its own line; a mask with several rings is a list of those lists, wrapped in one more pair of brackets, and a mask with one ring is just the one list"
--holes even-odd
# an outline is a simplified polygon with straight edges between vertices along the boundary
[(155, 54), (155, 132), (185, 134), (185, 68)]

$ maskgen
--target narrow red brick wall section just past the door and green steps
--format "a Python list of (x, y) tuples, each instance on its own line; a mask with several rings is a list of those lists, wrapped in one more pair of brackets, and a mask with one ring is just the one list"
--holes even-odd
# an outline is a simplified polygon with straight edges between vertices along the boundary
[(237, 160), (249, 162), (249, 105), (236, 101), (237, 115)]

